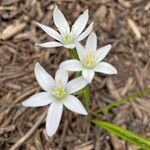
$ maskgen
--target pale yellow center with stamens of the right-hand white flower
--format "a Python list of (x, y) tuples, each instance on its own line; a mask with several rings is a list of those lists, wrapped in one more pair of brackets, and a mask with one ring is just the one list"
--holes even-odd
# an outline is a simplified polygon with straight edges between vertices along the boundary
[(83, 60), (83, 65), (86, 68), (92, 68), (95, 65), (95, 57), (92, 52), (88, 52), (85, 56), (85, 59)]

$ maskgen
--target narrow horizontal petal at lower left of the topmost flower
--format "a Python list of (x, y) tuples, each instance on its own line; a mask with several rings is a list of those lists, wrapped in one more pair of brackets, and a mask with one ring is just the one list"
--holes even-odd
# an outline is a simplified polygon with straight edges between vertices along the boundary
[(51, 48), (51, 47), (60, 47), (63, 44), (53, 41), (53, 42), (46, 42), (46, 43), (41, 43), (41, 44), (36, 43), (36, 45), (38, 45), (40, 47)]

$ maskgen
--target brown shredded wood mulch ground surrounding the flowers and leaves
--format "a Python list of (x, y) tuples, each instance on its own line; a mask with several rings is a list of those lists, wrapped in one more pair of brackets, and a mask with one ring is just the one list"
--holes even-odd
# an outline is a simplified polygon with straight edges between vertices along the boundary
[[(38, 61), (54, 75), (68, 58), (64, 48), (44, 49), (36, 42), (51, 40), (35, 21), (54, 27), (57, 4), (69, 23), (86, 9), (98, 35), (98, 47), (108, 43), (105, 59), (118, 75), (96, 74), (90, 107), (95, 110), (129, 93), (150, 88), (150, 2), (148, 0), (0, 0), (0, 149), (1, 150), (136, 150), (90, 123), (88, 117), (65, 109), (57, 134), (45, 132), (45, 108), (24, 108), (21, 102), (40, 91), (34, 65)], [(127, 102), (98, 118), (150, 137), (150, 95)]]

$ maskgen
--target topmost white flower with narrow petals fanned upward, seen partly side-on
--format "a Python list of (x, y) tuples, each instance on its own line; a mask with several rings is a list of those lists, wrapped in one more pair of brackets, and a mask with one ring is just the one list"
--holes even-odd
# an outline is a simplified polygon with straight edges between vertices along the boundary
[(70, 29), (69, 24), (62, 14), (62, 12), (55, 6), (53, 12), (53, 20), (58, 28), (59, 32), (54, 29), (45, 26), (43, 24), (37, 23), (49, 36), (53, 37), (56, 41), (46, 42), (42, 44), (36, 44), (41, 47), (60, 47), (64, 46), (66, 48), (74, 48), (76, 41), (81, 41), (85, 37), (87, 37), (93, 29), (93, 22), (88, 26), (88, 28), (83, 32), (85, 26), (87, 25), (87, 21), (89, 19), (88, 10), (86, 10), (82, 15), (80, 15), (72, 28)]

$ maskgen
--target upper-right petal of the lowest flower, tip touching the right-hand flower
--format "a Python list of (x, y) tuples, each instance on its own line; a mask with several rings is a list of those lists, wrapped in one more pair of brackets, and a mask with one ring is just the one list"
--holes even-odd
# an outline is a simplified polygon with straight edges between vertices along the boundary
[(86, 85), (87, 85), (87, 82), (84, 80), (84, 78), (78, 77), (78, 78), (75, 78), (75, 79), (69, 81), (66, 89), (69, 94), (72, 94), (72, 93), (75, 93), (75, 92), (81, 90)]

